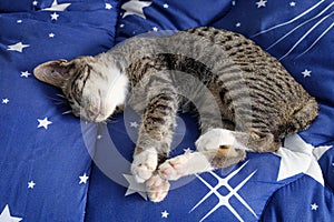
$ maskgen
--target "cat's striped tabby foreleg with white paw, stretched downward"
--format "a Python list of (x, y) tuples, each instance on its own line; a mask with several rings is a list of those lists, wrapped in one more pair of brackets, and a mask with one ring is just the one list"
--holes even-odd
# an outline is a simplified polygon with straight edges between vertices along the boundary
[(147, 105), (131, 164), (131, 172), (140, 183), (151, 178), (158, 163), (168, 157), (178, 108), (173, 85), (166, 85), (159, 78), (150, 80), (150, 83), (154, 89), (147, 92)]

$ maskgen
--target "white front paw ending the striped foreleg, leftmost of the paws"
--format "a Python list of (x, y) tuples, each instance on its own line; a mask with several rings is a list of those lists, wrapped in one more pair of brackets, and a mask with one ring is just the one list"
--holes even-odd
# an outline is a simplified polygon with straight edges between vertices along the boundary
[(158, 165), (158, 153), (156, 149), (148, 149), (134, 157), (131, 172), (138, 183), (144, 183), (151, 178)]

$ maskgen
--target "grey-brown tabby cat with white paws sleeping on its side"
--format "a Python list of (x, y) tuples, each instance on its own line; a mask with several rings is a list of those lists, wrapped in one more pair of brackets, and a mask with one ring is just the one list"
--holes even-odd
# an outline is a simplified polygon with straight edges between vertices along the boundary
[[(317, 115), (315, 99), (275, 58), (215, 28), (131, 38), (33, 73), (61, 88), (72, 113), (87, 121), (104, 122), (124, 105), (143, 113), (131, 172), (155, 202), (167, 195), (169, 180), (238, 163), (247, 150), (276, 151)], [(180, 108), (198, 113), (197, 152), (167, 159)]]

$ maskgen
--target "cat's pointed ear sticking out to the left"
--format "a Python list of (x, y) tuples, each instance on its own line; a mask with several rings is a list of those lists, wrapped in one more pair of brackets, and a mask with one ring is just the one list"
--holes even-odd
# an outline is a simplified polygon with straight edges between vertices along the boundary
[(61, 59), (39, 64), (33, 69), (33, 74), (40, 81), (62, 88), (71, 78), (71, 69), (72, 62)]

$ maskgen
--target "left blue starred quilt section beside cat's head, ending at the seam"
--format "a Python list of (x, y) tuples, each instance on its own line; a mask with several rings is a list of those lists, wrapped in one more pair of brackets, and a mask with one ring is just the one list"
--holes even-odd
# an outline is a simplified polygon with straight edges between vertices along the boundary
[(117, 13), (106, 6), (118, 2), (36, 2), (0, 4), (0, 221), (84, 221), (95, 140), (32, 70), (112, 47)]

